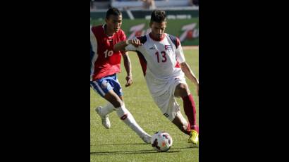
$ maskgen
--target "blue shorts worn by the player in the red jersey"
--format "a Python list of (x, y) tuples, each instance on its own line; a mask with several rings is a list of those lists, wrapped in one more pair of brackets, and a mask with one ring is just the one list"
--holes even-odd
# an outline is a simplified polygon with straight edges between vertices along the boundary
[(123, 90), (121, 89), (121, 84), (119, 84), (116, 74), (102, 77), (102, 79), (99, 80), (90, 81), (90, 87), (102, 97), (111, 89), (113, 89), (113, 92), (118, 96), (123, 96)]

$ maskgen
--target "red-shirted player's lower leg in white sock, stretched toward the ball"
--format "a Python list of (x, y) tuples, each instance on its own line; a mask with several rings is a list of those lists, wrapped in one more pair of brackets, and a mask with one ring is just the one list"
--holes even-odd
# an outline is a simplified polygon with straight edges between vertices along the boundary
[(113, 90), (111, 89), (107, 94), (105, 94), (104, 99), (109, 101), (116, 110), (116, 113), (118, 114), (118, 117), (123, 120), (123, 122), (128, 125), (132, 130), (134, 130), (137, 135), (142, 138), (142, 140), (146, 143), (150, 143), (150, 135), (147, 134), (147, 132), (144, 132), (142, 130), (142, 127), (137, 124), (135, 121), (135, 118), (133, 118), (133, 115), (128, 111), (127, 108), (125, 108), (125, 104), (123, 102), (123, 97), (118, 96)]

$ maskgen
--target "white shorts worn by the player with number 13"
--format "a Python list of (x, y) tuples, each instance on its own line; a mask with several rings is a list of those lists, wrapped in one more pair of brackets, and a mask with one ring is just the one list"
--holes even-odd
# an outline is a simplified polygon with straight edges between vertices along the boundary
[(176, 99), (175, 99), (175, 89), (176, 86), (180, 83), (183, 83), (187, 85), (187, 82), (185, 82), (185, 77), (173, 77), (168, 84), (166, 84), (166, 92), (164, 94), (161, 94), (159, 96), (154, 96), (153, 99), (156, 105), (161, 109), (161, 112), (168, 118), (168, 120), (173, 121), (173, 119), (178, 114), (178, 111), (180, 111), (180, 106), (178, 105)]

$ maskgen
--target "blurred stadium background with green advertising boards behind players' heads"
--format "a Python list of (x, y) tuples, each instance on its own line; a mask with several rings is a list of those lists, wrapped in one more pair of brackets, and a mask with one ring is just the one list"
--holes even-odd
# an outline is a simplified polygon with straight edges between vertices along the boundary
[(104, 24), (110, 7), (123, 13), (121, 28), (128, 39), (150, 32), (152, 10), (162, 9), (168, 18), (167, 33), (179, 37), (183, 46), (199, 45), (198, 0), (90, 0), (90, 25)]

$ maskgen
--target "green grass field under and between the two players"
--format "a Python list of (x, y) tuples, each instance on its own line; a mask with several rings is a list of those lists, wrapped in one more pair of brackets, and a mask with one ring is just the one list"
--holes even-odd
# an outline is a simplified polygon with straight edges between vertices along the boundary
[[(184, 50), (187, 63), (199, 78), (199, 50)], [(134, 52), (130, 52), (133, 67), (133, 85), (125, 87), (125, 68), (122, 61), (122, 73), (118, 74), (124, 93), (125, 106), (133, 114), (137, 123), (150, 135), (158, 130), (168, 132), (173, 138), (173, 146), (164, 153), (154, 151), (150, 144), (144, 144), (133, 130), (123, 123), (115, 112), (109, 115), (111, 129), (102, 126), (94, 108), (104, 106), (106, 101), (90, 89), (90, 161), (199, 161), (199, 149), (187, 143), (188, 136), (180, 132), (165, 116), (152, 99), (142, 74), (140, 62)], [(187, 84), (197, 104), (199, 99), (195, 86), (190, 80)], [(178, 99), (183, 116), (183, 100)], [(199, 123), (199, 122), (198, 122)]]

